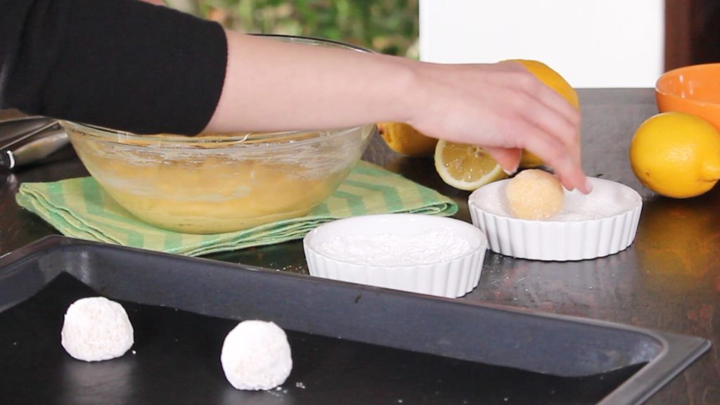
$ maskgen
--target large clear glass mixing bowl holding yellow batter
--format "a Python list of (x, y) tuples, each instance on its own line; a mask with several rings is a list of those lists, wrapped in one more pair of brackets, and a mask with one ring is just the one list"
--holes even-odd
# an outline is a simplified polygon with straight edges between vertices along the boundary
[(238, 231), (309, 213), (337, 189), (377, 133), (369, 124), (188, 137), (61, 124), (86, 169), (118, 204), (142, 221), (184, 233)]

